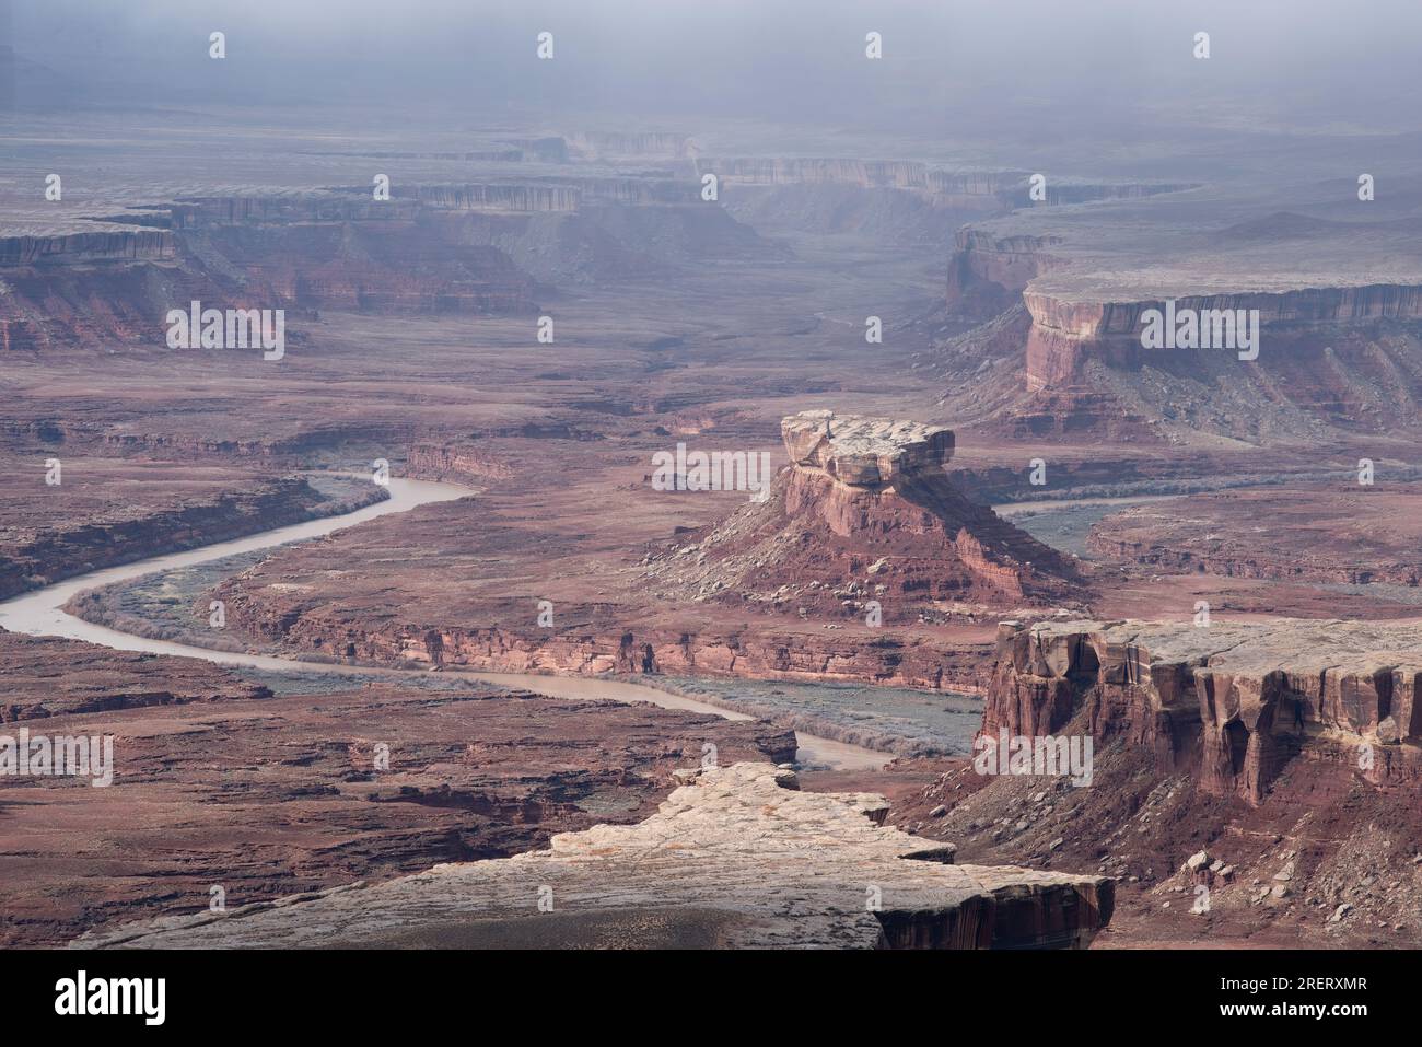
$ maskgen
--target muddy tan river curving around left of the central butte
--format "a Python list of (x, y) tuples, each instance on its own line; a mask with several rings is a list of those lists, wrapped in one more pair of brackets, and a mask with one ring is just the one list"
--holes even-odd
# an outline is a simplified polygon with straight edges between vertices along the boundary
[[(448, 502), (474, 494), (468, 488), (455, 484), (437, 484), (422, 479), (402, 479), (391, 477), (390, 498), (367, 505), (363, 509), (347, 512), (340, 516), (323, 516), (321, 519), (293, 524), (284, 528), (263, 531), (247, 538), (237, 538), (230, 542), (205, 545), (186, 552), (151, 556), (144, 560), (124, 563), (117, 568), (91, 570), (87, 575), (54, 582), (41, 589), (34, 589), (20, 596), (14, 596), (0, 603), (0, 626), (13, 633), (30, 633), (33, 636), (63, 636), (71, 640), (87, 640), (88, 643), (109, 647), (112, 650), (149, 652), (152, 654), (176, 654), (189, 659), (202, 659), (222, 666), (249, 666), (252, 669), (266, 669), (276, 671), (320, 673), (337, 676), (408, 676), (425, 670), (388, 669), (370, 666), (330, 664), (324, 661), (301, 661), (297, 659), (282, 659), (266, 654), (245, 654), (236, 652), (208, 650), (171, 640), (149, 640), (142, 636), (121, 633), (108, 626), (94, 625), (74, 617), (64, 610), (70, 597), (84, 589), (95, 589), (115, 582), (127, 582), (141, 575), (152, 575), (178, 568), (189, 568), (196, 563), (222, 559), (242, 552), (270, 549), (289, 542), (300, 542), (309, 538), (328, 535), (356, 524), (363, 524), (377, 516), (391, 512), (407, 512), (418, 505), (431, 502)], [(611, 701), (650, 701), (664, 708), (684, 708), (694, 713), (710, 713), (725, 720), (749, 720), (744, 713), (734, 713), (704, 701), (671, 694), (656, 687), (624, 680), (603, 680), (582, 676), (536, 676), (532, 673), (476, 673), (468, 670), (447, 669), (444, 676), (468, 677), (505, 687), (518, 687), (546, 694), (553, 698), (590, 700), (602, 698)], [(830, 738), (819, 738), (813, 734), (796, 733), (799, 745), (798, 758), (806, 764), (826, 765), (836, 770), (870, 770), (883, 767), (890, 757), (884, 753), (850, 745)]]

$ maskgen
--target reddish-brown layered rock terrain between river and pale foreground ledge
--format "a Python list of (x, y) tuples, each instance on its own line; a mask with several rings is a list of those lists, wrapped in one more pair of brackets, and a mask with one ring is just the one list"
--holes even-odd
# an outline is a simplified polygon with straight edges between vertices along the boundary
[(267, 690), (193, 659), (3, 633), (0, 654), (10, 701), (50, 713), (0, 734), (114, 737), (105, 788), (0, 775), (0, 946), (205, 913), (213, 885), (236, 910), (505, 858), (646, 818), (708, 745), (795, 754), (792, 731), (759, 721), (478, 681), (301, 674)]

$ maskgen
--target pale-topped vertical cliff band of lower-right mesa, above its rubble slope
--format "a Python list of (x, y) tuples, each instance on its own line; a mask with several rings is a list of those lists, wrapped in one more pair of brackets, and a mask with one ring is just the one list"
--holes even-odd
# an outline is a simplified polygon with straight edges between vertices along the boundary
[[(1004, 622), (983, 716), (995, 735), (1149, 747), (1206, 792), (1264, 801), (1301, 754), (1379, 788), (1422, 777), (1422, 623)], [(1084, 720), (1081, 718), (1084, 717)]]

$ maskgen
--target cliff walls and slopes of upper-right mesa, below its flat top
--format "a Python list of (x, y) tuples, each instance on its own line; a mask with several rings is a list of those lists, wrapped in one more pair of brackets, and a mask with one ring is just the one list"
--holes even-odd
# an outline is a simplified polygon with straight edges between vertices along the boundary
[[(950, 398), (964, 383), (991, 383), (1003, 403), (995, 430), (1133, 441), (1219, 432), (1266, 442), (1307, 438), (1320, 422), (1379, 432), (1422, 417), (1422, 285), (1116, 297), (1111, 279), (1125, 277), (1091, 273), (1054, 233), (967, 228), (957, 248), (950, 313), (993, 319), (947, 343), (940, 357), (954, 383)], [(1221, 324), (1229, 316), (1231, 326), (1237, 310), (1258, 310), (1257, 337), (1224, 349), (1143, 347), (1143, 314), (1165, 314), (1167, 300), (1176, 316), (1194, 310)], [(1024, 327), (1008, 323), (1015, 309), (1025, 312)], [(1214, 321), (1202, 323), (1213, 334)], [(1004, 339), (1015, 340), (1012, 351)], [(1257, 358), (1240, 358), (1254, 351)], [(975, 370), (1003, 357), (1011, 370), (985, 378)]]

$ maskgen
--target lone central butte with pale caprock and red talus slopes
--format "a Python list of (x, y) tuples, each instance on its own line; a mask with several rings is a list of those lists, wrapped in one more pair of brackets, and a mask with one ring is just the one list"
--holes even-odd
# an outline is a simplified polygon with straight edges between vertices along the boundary
[(663, 553), (697, 599), (819, 616), (913, 622), (940, 605), (1061, 606), (1085, 585), (1072, 562), (968, 501), (948, 481), (943, 425), (802, 411), (781, 421), (791, 465), (765, 504), (691, 532)]

